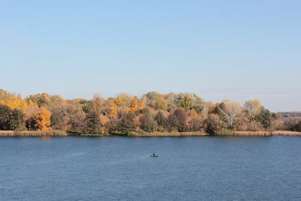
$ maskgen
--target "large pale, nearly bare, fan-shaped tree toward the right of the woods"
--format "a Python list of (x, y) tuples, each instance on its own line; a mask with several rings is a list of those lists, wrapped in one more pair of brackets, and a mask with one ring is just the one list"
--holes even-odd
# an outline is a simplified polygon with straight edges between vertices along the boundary
[(228, 128), (233, 129), (235, 122), (237, 121), (242, 112), (241, 105), (236, 101), (224, 99), (222, 103), (218, 106), (218, 109), (220, 115), (224, 117)]

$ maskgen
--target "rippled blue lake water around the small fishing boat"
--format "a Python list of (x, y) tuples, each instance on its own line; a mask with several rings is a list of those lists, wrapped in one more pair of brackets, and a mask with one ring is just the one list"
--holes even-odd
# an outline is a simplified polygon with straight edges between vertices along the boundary
[(0, 137), (0, 200), (301, 200), (301, 137)]

